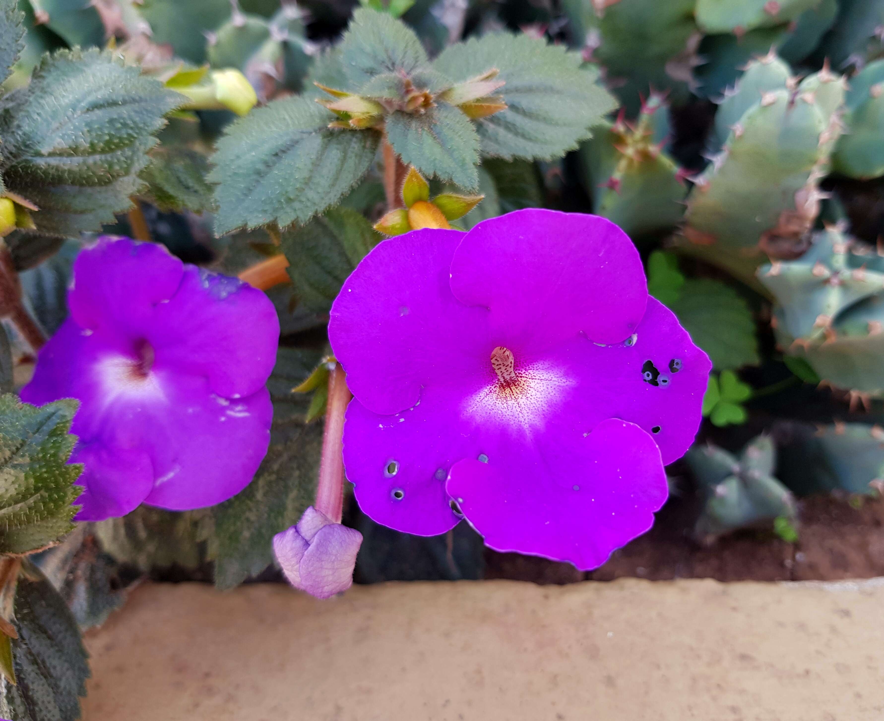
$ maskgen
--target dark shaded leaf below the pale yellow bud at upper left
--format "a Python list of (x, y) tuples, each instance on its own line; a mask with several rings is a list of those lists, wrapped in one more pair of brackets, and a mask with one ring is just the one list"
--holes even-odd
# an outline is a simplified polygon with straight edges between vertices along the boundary
[(147, 198), (157, 208), (172, 213), (212, 208), (212, 186), (206, 180), (209, 161), (189, 148), (155, 148), (150, 164), (141, 171), (148, 184)]

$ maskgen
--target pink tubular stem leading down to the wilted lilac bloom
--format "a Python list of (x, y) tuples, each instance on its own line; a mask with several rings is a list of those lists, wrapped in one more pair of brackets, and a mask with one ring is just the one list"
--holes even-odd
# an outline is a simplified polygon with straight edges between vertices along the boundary
[(347, 388), (347, 374), (339, 363), (329, 374), (329, 399), (325, 408), (325, 432), (323, 455), (319, 461), (319, 483), (316, 486), (317, 511), (324, 513), (335, 523), (340, 523), (344, 513), (344, 412), (352, 398)]

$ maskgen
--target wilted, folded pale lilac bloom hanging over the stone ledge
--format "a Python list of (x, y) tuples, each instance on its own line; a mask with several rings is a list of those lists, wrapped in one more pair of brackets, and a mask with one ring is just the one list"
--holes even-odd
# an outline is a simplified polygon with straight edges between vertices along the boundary
[(353, 585), (362, 534), (311, 505), (293, 526), (273, 536), (273, 552), (294, 588), (330, 598)]

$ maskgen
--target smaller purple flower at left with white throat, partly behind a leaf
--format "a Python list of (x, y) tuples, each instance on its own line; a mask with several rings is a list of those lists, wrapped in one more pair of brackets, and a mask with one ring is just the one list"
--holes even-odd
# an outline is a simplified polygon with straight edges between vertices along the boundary
[(80, 400), (77, 519), (239, 493), (270, 442), (279, 323), (266, 295), (162, 246), (103, 237), (77, 256), (68, 306), (21, 398)]

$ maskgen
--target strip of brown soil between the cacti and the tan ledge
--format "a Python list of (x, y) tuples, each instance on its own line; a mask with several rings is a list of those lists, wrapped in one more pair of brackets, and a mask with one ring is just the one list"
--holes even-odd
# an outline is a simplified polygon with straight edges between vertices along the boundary
[(536, 583), (653, 581), (711, 578), (717, 581), (838, 581), (884, 576), (884, 499), (813, 496), (799, 504), (799, 540), (743, 531), (702, 546), (691, 538), (697, 506), (674, 498), (652, 529), (591, 573), (569, 564), (515, 553), (485, 554), (484, 577)]

